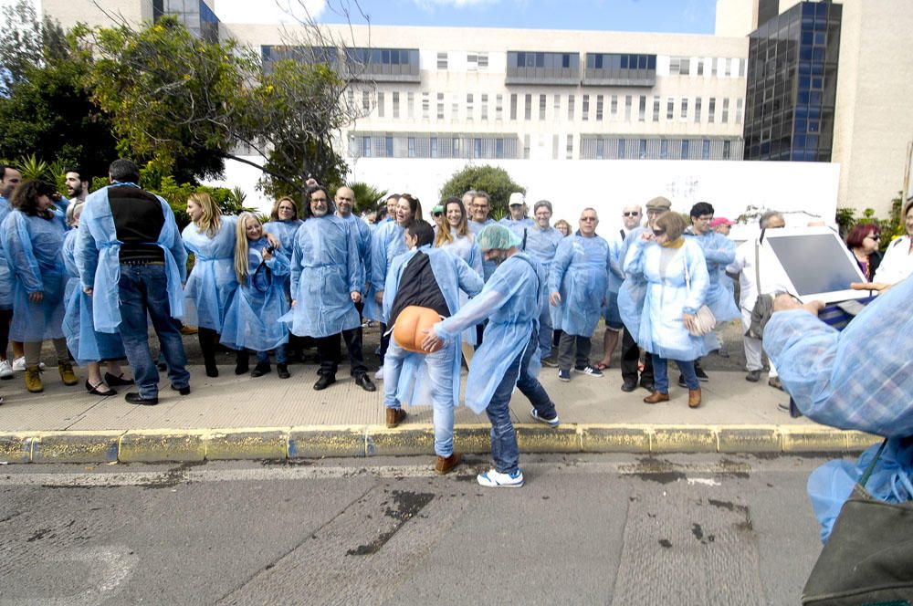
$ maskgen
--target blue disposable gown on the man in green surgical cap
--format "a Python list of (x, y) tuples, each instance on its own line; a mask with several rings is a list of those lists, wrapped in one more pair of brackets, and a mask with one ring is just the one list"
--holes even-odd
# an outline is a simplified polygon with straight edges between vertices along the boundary
[[(542, 266), (525, 253), (518, 253), (498, 266), (482, 292), (466, 307), (435, 325), (441, 339), (458, 340), (461, 331), (488, 318), (466, 381), (466, 405), (475, 413), (488, 407), (510, 364), (530, 346), (532, 331), (539, 327), (545, 284)], [(538, 361), (537, 353), (530, 363), (532, 376), (538, 373)]]

